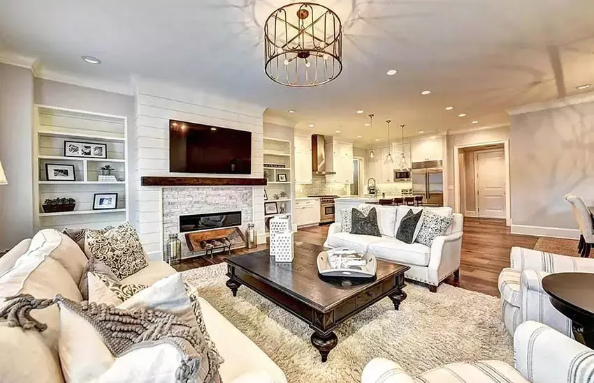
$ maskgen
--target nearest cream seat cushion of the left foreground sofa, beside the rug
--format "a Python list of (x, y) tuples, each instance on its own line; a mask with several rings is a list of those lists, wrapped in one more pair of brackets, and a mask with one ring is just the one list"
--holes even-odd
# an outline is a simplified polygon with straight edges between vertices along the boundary
[(217, 345), (219, 354), (225, 359), (219, 367), (223, 382), (233, 382), (236, 378), (245, 377), (245, 375), (259, 377), (259, 380), (254, 382), (287, 382), (282, 370), (252, 340), (236, 329), (202, 297), (198, 297), (198, 301), (202, 308), (206, 329)]

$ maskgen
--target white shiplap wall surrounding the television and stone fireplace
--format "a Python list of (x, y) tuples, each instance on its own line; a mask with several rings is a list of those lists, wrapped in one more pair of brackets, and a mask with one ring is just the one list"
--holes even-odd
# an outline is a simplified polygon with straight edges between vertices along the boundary
[[(263, 177), (262, 115), (264, 108), (212, 96), (161, 82), (136, 79), (136, 137), (133, 153), (134, 174), (130, 188), (136, 193), (136, 211), (131, 221), (140, 235), (145, 251), (152, 259), (161, 259), (163, 251), (162, 190), (140, 186), (140, 177)], [(252, 174), (248, 176), (187, 174), (169, 172), (169, 120), (205, 123), (252, 132)], [(263, 186), (254, 186), (254, 223), (259, 242), (266, 242), (264, 232)]]

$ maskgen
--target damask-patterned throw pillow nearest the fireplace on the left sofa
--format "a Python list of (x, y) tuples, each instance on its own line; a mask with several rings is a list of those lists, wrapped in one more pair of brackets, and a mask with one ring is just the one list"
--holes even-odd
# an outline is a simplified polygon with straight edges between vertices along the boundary
[(148, 266), (138, 233), (130, 223), (107, 232), (87, 230), (85, 253), (109, 266), (119, 279), (124, 279)]

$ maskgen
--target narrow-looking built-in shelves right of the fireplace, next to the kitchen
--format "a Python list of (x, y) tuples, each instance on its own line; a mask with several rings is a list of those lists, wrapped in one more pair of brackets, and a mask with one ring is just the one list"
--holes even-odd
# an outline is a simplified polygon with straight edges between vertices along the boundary
[[(290, 141), (278, 140), (275, 138), (264, 137), (264, 178), (268, 180), (266, 185), (266, 202), (275, 202), (279, 213), (266, 213), (264, 210), (264, 220), (266, 221), (266, 235), (268, 235), (268, 220), (274, 216), (279, 216), (281, 208), (284, 206), (284, 214), (289, 216), (293, 212), (294, 196), (294, 174), (291, 172), (291, 163), (293, 159), (293, 148)], [(267, 164), (275, 166), (266, 166)], [(279, 167), (280, 166), (280, 167)], [(280, 181), (284, 174), (286, 181)], [(280, 177), (281, 175), (281, 177)], [(275, 200), (275, 195), (284, 192), (286, 196)]]

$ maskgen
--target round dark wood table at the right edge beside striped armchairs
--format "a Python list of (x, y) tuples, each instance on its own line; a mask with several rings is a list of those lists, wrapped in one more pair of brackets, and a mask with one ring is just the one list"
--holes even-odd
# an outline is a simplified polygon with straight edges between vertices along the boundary
[(594, 349), (594, 273), (556, 273), (542, 278), (554, 308), (572, 321), (575, 339)]

